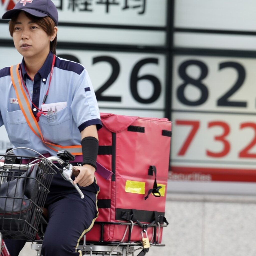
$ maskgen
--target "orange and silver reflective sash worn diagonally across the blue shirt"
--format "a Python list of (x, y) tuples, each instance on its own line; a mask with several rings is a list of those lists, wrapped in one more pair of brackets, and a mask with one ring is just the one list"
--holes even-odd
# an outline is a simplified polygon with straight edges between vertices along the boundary
[(81, 145), (60, 146), (60, 145), (57, 145), (57, 144), (52, 144), (52, 143), (44, 141), (44, 137), (42, 135), (42, 132), (40, 130), (38, 122), (36, 121), (36, 118), (35, 118), (34, 114), (32, 113), (30, 103), (29, 103), (29, 101), (26, 97), (26, 93), (23, 89), (18, 68), (19, 68), (19, 64), (15, 65), (15, 66), (11, 66), (10, 73), (11, 73), (12, 83), (13, 83), (13, 87), (14, 87), (16, 95), (17, 95), (17, 99), (18, 99), (20, 109), (22, 110), (22, 113), (25, 116), (26, 121), (27, 121), (28, 126), (30, 127), (30, 129), (39, 138), (41, 138), (42, 142), (46, 146), (48, 146), (52, 150), (54, 150), (56, 152), (59, 151), (59, 150), (67, 150), (72, 155), (82, 155)]

